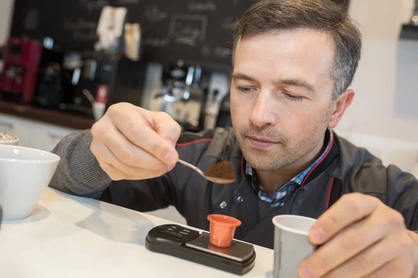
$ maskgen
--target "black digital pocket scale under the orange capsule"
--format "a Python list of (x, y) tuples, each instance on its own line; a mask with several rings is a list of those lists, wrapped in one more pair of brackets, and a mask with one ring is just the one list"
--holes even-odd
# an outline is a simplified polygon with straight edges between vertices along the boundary
[(244, 275), (254, 267), (253, 245), (232, 240), (231, 246), (216, 247), (209, 242), (209, 233), (177, 224), (165, 224), (151, 229), (146, 236), (148, 250), (194, 261), (212, 268)]

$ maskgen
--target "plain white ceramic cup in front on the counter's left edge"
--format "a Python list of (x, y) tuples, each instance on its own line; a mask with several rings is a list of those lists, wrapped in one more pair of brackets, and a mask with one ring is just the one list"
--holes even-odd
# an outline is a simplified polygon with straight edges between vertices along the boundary
[(3, 220), (26, 218), (58, 166), (59, 156), (49, 152), (0, 145), (0, 206)]

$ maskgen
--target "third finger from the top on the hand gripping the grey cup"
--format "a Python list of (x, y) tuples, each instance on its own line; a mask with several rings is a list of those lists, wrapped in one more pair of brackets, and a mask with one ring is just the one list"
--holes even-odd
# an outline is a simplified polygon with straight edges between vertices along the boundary
[(402, 254), (404, 246), (398, 244), (398, 238), (397, 234), (383, 238), (324, 277), (360, 278), (371, 275)]

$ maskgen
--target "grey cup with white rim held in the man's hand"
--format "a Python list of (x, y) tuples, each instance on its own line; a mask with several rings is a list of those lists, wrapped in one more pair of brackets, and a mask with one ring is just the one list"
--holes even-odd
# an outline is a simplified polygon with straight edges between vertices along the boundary
[(316, 219), (299, 215), (277, 215), (274, 224), (274, 278), (297, 278), (297, 267), (316, 250), (308, 231)]

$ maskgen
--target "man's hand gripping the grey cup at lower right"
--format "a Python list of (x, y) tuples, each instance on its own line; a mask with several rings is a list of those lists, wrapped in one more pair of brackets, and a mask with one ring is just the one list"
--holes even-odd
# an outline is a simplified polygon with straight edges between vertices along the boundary
[(376, 197), (343, 195), (311, 227), (309, 240), (322, 246), (300, 264), (302, 278), (418, 278), (418, 235)]

